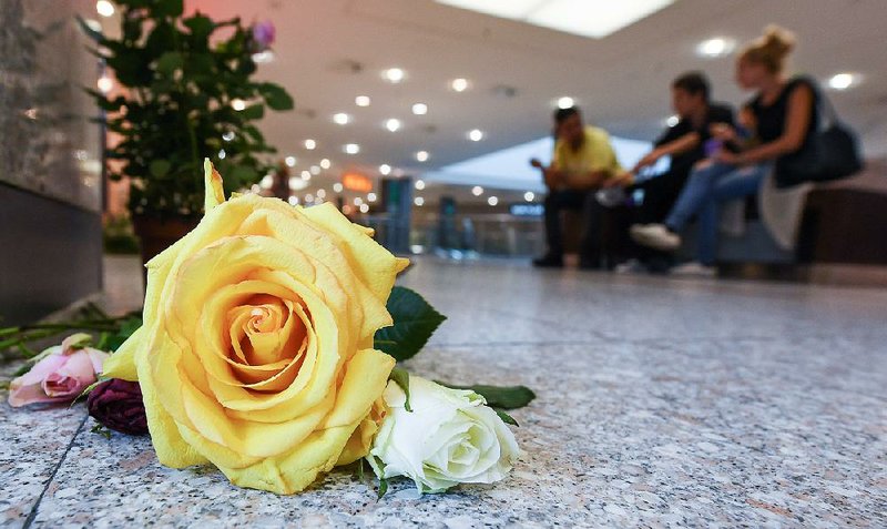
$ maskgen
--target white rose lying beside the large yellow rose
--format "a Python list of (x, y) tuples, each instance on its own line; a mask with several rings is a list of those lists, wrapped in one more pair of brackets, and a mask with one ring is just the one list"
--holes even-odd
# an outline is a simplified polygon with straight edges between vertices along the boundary
[(406, 395), (389, 382), (388, 405), (367, 458), (379, 478), (406, 476), (419, 492), (441, 492), (458, 484), (491, 484), (506, 477), (520, 455), (508, 426), (471, 390), (409, 378)]

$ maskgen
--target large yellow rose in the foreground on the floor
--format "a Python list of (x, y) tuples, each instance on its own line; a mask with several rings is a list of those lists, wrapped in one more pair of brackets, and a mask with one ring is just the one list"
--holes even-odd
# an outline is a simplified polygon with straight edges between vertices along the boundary
[(139, 380), (163, 465), (293, 494), (363, 457), (394, 358), (373, 348), (408, 264), (333, 205), (234, 196), (147, 263), (143, 325), (104, 376)]

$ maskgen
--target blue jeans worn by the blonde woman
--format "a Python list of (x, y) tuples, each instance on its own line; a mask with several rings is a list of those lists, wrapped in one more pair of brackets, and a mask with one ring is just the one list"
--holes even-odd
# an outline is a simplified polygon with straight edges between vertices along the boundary
[(717, 255), (718, 206), (723, 202), (756, 194), (768, 170), (768, 163), (737, 167), (717, 162), (694, 169), (665, 218), (665, 225), (680, 232), (693, 215), (699, 215), (697, 257), (700, 263), (713, 265)]

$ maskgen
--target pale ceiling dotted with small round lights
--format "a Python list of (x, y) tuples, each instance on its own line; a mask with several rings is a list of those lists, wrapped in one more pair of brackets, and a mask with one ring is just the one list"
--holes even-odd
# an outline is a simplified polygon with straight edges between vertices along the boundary
[[(328, 179), (348, 167), (375, 173), (381, 163), (417, 174), (541, 138), (560, 95), (573, 96), (590, 121), (613, 134), (650, 140), (671, 114), (669, 83), (684, 70), (705, 70), (715, 99), (745, 99), (732, 81), (733, 59), (704, 60), (694, 48), (712, 37), (744, 42), (771, 22), (797, 33), (795, 70), (820, 79), (839, 71), (865, 75), (861, 85), (833, 99), (866, 140), (868, 154), (887, 153), (885, 0), (679, 0), (601, 40), (431, 0), (186, 3), (214, 18), (275, 23), (276, 59), (261, 67), (259, 77), (286, 87), (297, 110), (272, 114), (263, 130), (282, 156), (297, 157), (298, 170), (330, 159)], [(407, 79), (384, 81), (380, 72), (390, 67), (406, 70)], [(457, 77), (471, 80), (472, 88), (449, 90)], [(497, 95), (497, 87), (517, 94)], [(359, 94), (369, 95), (371, 105), (357, 108)], [(428, 114), (412, 115), (415, 102), (427, 103)], [(351, 114), (353, 123), (334, 124), (336, 112)], [(404, 128), (388, 132), (388, 118), (400, 119)], [(483, 141), (466, 139), (475, 128), (486, 132)], [(317, 140), (317, 150), (304, 149), (307, 138)], [(344, 154), (345, 143), (360, 144), (360, 153)], [(415, 161), (418, 150), (430, 152), (427, 163)]]

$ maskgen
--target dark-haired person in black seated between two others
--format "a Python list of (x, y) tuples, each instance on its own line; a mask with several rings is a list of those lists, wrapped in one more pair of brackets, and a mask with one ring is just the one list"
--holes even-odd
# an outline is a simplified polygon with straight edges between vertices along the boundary
[[(712, 139), (712, 125), (733, 124), (733, 109), (710, 101), (710, 84), (702, 72), (687, 72), (672, 82), (672, 106), (679, 122), (654, 142), (654, 149), (638, 162), (630, 173), (613, 179), (608, 185), (621, 185), (628, 193), (643, 190), (643, 202), (632, 212), (635, 224), (662, 222), (684, 187), (693, 165), (705, 157), (705, 145)], [(669, 170), (639, 181), (638, 174), (670, 156)], [(648, 266), (653, 261), (669, 261), (667, 254), (639, 248), (638, 258)]]

